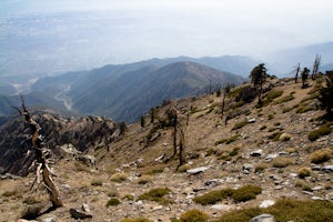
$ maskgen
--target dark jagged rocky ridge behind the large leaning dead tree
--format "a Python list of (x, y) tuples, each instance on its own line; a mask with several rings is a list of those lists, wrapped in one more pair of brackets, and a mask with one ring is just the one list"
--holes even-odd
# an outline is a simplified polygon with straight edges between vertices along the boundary
[[(125, 130), (124, 123), (115, 123), (107, 118), (63, 118), (51, 113), (36, 113), (36, 121), (41, 127), (41, 134), (52, 153), (59, 160), (65, 153), (62, 145), (74, 145), (78, 153), (89, 149), (108, 145), (120, 139)], [(0, 128), (0, 169), (2, 173), (27, 175), (33, 162), (34, 153), (30, 132), (22, 117), (6, 121)], [(56, 161), (54, 160), (54, 161)]]

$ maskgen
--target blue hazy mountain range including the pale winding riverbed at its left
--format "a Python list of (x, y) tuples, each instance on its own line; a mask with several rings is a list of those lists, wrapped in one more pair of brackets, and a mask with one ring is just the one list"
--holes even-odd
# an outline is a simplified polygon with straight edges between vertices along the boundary
[[(183, 60), (185, 58), (152, 59), (42, 78), (24, 97), (30, 105), (70, 109), (81, 114), (133, 122), (164, 100), (200, 94), (209, 84), (240, 84), (246, 80)], [(206, 60), (213, 63), (219, 59)]]

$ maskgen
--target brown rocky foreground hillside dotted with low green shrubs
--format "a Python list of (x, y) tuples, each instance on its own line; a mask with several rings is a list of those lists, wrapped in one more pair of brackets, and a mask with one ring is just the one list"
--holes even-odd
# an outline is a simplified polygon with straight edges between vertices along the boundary
[[(223, 119), (223, 97), (215, 93), (164, 103), (155, 109), (153, 122), (147, 115), (144, 127), (128, 125), (119, 140), (91, 142), (87, 154), (95, 158), (95, 165), (85, 165), (69, 152), (58, 160), (52, 168), (64, 206), (38, 220), (75, 221), (70, 209), (82, 211), (84, 204), (83, 209), (90, 209), (85, 215), (92, 215), (87, 221), (101, 222), (183, 222), (186, 216), (192, 216), (188, 221), (193, 216), (250, 221), (262, 213), (276, 221), (331, 221), (333, 122), (317, 109), (321, 80), (309, 83), (310, 88), (302, 89), (293, 79), (272, 78), (264, 87), (262, 107), (242, 93), (249, 84), (233, 88)], [(180, 168), (179, 158), (172, 157), (173, 128), (168, 122), (173, 105), (184, 132), (186, 163)], [(77, 134), (71, 131), (79, 131), (78, 135), (94, 132), (67, 127), (59, 137), (67, 132), (69, 142)], [(89, 140), (99, 134), (111, 133)], [(79, 143), (71, 143), (62, 147), (80, 150)], [(34, 173), (3, 178), (1, 220), (14, 221), (31, 208), (43, 211), (44, 191), (29, 190)]]

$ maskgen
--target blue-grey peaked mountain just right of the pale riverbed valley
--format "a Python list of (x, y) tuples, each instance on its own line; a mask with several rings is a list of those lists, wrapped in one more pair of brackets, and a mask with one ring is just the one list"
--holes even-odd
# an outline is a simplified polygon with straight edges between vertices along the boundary
[(133, 122), (163, 100), (195, 95), (210, 81), (223, 85), (240, 84), (244, 79), (193, 62), (175, 62), (160, 69), (144, 67), (113, 81), (104, 79), (94, 89), (81, 94), (80, 100), (74, 100), (73, 107), (84, 113)]

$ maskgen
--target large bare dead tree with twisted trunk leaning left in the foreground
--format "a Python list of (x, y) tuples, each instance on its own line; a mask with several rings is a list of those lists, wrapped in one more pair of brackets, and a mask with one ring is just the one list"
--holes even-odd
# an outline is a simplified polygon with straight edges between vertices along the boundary
[(49, 154), (48, 149), (46, 148), (46, 143), (43, 142), (43, 137), (39, 133), (40, 125), (32, 119), (30, 115), (26, 104), (23, 97), (21, 97), (21, 109), (14, 108), (19, 111), (20, 115), (24, 117), (26, 122), (29, 124), (29, 128), (31, 130), (31, 141), (32, 141), (32, 148), (36, 153), (36, 161), (38, 162), (37, 172), (36, 172), (36, 179), (31, 188), (33, 188), (34, 183), (37, 182), (40, 184), (41, 176), (43, 180), (43, 185), (46, 186), (50, 201), (52, 203), (52, 208), (59, 208), (62, 206), (62, 201), (59, 196), (59, 191), (54, 184), (54, 181), (52, 180), (52, 175), (54, 173), (48, 165), (48, 158)]

